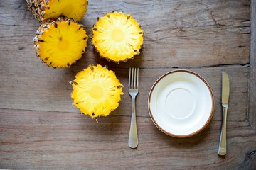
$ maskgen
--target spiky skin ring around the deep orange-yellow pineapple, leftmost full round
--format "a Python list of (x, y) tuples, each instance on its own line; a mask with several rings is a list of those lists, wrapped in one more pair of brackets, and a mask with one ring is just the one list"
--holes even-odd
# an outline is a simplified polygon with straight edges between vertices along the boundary
[(71, 64), (74, 64), (77, 60), (79, 60), (82, 57), (82, 54), (85, 53), (85, 47), (87, 47), (88, 37), (87, 37), (86, 31), (85, 31), (85, 35), (83, 37), (83, 39), (85, 40), (83, 50), (80, 53), (81, 55), (79, 57), (77, 57), (74, 62), (67, 62), (67, 64), (65, 64), (65, 65), (58, 65), (58, 64), (53, 65), (53, 63), (49, 63), (48, 60), (46, 60), (45, 57), (42, 57), (41, 56), (41, 50), (40, 50), (40, 43), (43, 42), (43, 40), (41, 40), (42, 35), (44, 33), (46, 33), (49, 30), (50, 27), (53, 27), (53, 26), (57, 27), (58, 24), (61, 23), (61, 22), (66, 22), (68, 24), (75, 23), (75, 24), (78, 25), (79, 29), (82, 29), (82, 30), (85, 31), (85, 27), (82, 24), (75, 22), (73, 19), (64, 18), (64, 17), (59, 17), (59, 18), (56, 18), (56, 19), (48, 19), (45, 23), (43, 23), (39, 26), (38, 30), (36, 31), (36, 36), (35, 36), (35, 38), (33, 38), (34, 49), (36, 50), (36, 56), (41, 59), (41, 62), (46, 63), (46, 65), (51, 66), (53, 68), (70, 67)]

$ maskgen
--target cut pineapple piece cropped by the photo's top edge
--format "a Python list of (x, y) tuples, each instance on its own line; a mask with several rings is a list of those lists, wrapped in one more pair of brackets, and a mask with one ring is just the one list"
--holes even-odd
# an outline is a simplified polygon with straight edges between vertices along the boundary
[(43, 22), (65, 16), (81, 21), (87, 11), (87, 0), (26, 0), (33, 15)]

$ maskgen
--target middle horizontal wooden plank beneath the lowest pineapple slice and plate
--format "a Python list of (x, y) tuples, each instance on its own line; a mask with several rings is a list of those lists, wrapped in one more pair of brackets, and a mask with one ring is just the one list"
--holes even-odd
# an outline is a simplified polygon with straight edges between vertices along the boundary
[[(41, 63), (40, 63), (41, 64)], [(75, 112), (70, 93), (72, 86), (68, 83), (78, 72), (76, 67), (70, 69), (51, 69), (38, 64), (34, 72), (31, 68), (22, 68), (15, 64), (9, 72), (1, 74), (0, 108), (16, 108), (35, 111)], [(9, 65), (9, 64), (7, 64)], [(10, 66), (10, 65), (9, 65)], [(33, 66), (31, 66), (33, 68)], [(5, 67), (0, 68), (4, 72)], [(118, 79), (124, 84), (124, 96), (114, 115), (130, 115), (132, 102), (128, 94), (129, 69), (110, 68), (116, 72)], [(19, 71), (17, 71), (19, 70)], [(140, 69), (140, 91), (137, 96), (137, 115), (149, 117), (147, 100), (154, 81), (171, 68)], [(221, 120), (221, 72), (225, 70), (230, 76), (230, 106), (228, 120), (242, 121), (247, 116), (248, 67), (208, 67), (201, 69), (190, 68), (201, 74), (208, 81), (215, 97), (214, 120)]]

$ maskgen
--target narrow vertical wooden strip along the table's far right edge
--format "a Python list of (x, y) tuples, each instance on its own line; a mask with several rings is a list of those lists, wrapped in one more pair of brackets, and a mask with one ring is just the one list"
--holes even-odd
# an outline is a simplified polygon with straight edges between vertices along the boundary
[(251, 1), (250, 79), (248, 120), (256, 130), (256, 1)]

